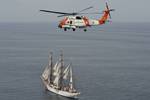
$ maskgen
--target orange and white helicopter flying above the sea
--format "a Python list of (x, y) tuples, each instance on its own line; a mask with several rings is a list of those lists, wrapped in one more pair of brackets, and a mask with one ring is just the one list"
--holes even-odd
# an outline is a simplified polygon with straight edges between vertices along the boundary
[[(49, 10), (40, 10), (40, 11), (60, 14), (57, 17), (64, 17), (58, 25), (58, 27), (64, 29), (64, 31), (67, 31), (67, 29), (72, 29), (73, 31), (75, 31), (77, 28), (83, 28), (84, 31), (87, 31), (87, 27), (103, 25), (106, 22), (109, 22), (108, 19), (111, 18), (110, 12), (115, 11), (115, 9), (109, 9), (108, 4), (106, 2), (106, 9), (101, 13), (99, 12), (82, 13), (83, 11), (89, 10), (91, 8), (93, 7), (91, 6), (79, 12), (73, 12), (73, 13), (57, 12), (57, 11), (49, 11)], [(83, 14), (103, 14), (103, 15), (100, 19), (96, 20), (96, 19), (89, 19), (86, 16), (81, 16)]]

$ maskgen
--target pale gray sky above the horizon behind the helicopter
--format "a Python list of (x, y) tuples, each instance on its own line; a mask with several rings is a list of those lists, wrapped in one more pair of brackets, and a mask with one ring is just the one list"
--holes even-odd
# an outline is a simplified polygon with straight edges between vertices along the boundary
[[(150, 0), (107, 0), (116, 9), (113, 22), (150, 22)], [(92, 11), (102, 11), (105, 0), (0, 0), (0, 22), (54, 22), (55, 14), (39, 12), (40, 9), (64, 12), (79, 11), (94, 6)], [(88, 15), (87, 15), (88, 16)], [(99, 18), (92, 15), (89, 18)]]

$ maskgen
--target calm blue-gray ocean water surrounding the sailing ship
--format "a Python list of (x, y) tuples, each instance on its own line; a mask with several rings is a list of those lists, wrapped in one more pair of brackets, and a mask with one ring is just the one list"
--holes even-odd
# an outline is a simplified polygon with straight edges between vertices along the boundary
[(0, 23), (0, 100), (69, 100), (45, 92), (40, 75), (63, 50), (79, 100), (150, 99), (150, 23), (64, 32), (53, 23)]

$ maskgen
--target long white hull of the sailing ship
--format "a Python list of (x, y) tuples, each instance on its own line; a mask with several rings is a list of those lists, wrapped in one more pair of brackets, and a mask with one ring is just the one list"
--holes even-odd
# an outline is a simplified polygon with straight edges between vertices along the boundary
[(44, 83), (45, 88), (47, 90), (55, 93), (55, 94), (58, 94), (58, 95), (61, 95), (61, 96), (64, 96), (64, 97), (69, 97), (69, 98), (76, 98), (80, 94), (80, 93), (77, 93), (77, 92), (71, 93), (69, 91), (63, 91), (63, 90), (55, 89), (53, 86), (50, 86), (45, 80), (43, 80), (43, 78), (42, 78), (42, 81)]

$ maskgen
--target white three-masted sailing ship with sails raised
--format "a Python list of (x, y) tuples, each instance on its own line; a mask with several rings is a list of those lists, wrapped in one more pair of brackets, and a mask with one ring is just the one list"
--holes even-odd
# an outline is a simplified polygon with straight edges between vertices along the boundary
[(45, 89), (55, 94), (76, 98), (80, 93), (74, 86), (71, 64), (64, 66), (63, 53), (54, 64), (52, 52), (49, 54), (49, 63), (41, 75)]

